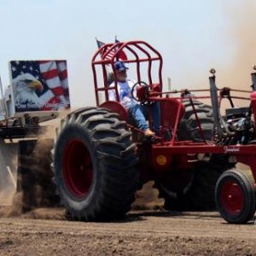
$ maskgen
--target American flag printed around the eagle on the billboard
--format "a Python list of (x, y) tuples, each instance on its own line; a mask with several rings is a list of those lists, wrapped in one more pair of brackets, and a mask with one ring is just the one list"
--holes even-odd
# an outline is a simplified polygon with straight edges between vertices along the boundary
[(43, 84), (44, 90), (36, 91), (42, 106), (40, 110), (70, 107), (67, 61), (10, 61), (10, 68), (12, 79), (30, 73)]

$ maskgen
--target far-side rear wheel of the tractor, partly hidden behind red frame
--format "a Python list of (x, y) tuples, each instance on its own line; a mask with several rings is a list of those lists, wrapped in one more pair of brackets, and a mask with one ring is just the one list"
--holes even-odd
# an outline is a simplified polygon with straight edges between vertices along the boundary
[[(199, 101), (193, 101), (193, 103), (201, 121), (204, 137), (207, 141), (211, 141), (213, 131), (212, 108)], [(185, 100), (183, 104), (185, 113), (180, 121), (177, 137), (179, 140), (201, 142), (201, 133), (191, 102)], [(182, 183), (182, 187), (172, 189), (172, 184), (168, 184), (167, 178), (164, 178), (164, 181), (155, 181), (155, 187), (160, 192), (159, 196), (165, 199), (166, 210), (203, 211), (215, 209), (214, 189), (218, 177), (233, 165), (228, 162), (226, 156), (212, 154), (208, 159), (196, 162), (191, 170), (187, 170), (190, 173), (189, 176), (186, 174), (186, 177), (179, 177), (180, 181), (177, 180), (176, 183)], [(179, 171), (176, 170), (175, 172)], [(183, 184), (184, 180), (187, 180), (186, 184)]]

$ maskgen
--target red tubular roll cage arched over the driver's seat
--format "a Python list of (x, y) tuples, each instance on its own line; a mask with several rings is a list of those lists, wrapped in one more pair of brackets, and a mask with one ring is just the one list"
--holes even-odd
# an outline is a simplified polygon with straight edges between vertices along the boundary
[[(122, 53), (127, 55), (127, 59), (121, 58)], [(141, 57), (141, 55), (145, 55)], [(128, 57), (130, 56), (130, 57)], [(130, 41), (130, 42), (119, 42), (115, 44), (103, 44), (100, 49), (96, 51), (91, 60), (95, 94), (96, 94), (96, 105), (100, 105), (99, 91), (105, 92), (105, 99), (108, 101), (108, 90), (115, 90), (117, 101), (119, 101), (119, 94), (117, 91), (117, 82), (114, 81), (114, 86), (108, 85), (108, 72), (107, 66), (111, 66), (113, 75), (116, 77), (113, 64), (115, 61), (123, 61), (125, 63), (136, 63), (137, 64), (137, 81), (141, 81), (141, 62), (148, 62), (148, 84), (152, 84), (152, 63), (153, 61), (159, 61), (158, 67), (158, 84), (160, 84), (160, 90), (162, 91), (162, 66), (163, 60), (159, 51), (154, 49), (150, 44), (143, 41)], [(102, 66), (103, 73), (103, 86), (98, 84), (96, 66)]]

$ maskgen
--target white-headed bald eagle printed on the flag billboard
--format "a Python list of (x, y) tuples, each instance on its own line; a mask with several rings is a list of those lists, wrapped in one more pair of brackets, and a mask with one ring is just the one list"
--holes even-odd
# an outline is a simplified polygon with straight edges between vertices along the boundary
[(15, 108), (24, 110), (40, 109), (36, 90), (43, 90), (43, 84), (30, 73), (23, 73), (13, 79)]

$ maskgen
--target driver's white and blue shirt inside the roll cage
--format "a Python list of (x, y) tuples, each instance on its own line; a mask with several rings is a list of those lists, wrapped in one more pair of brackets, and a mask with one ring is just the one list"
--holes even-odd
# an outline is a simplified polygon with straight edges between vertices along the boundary
[[(131, 87), (135, 84), (134, 81), (126, 79), (125, 82), (117, 82), (118, 92), (119, 92), (119, 101), (125, 107), (129, 108), (132, 103), (136, 101), (131, 96)], [(114, 86), (114, 82), (109, 85), (109, 87)], [(115, 90), (108, 91), (109, 101), (116, 101), (117, 97)]]

